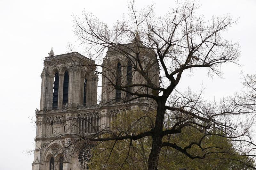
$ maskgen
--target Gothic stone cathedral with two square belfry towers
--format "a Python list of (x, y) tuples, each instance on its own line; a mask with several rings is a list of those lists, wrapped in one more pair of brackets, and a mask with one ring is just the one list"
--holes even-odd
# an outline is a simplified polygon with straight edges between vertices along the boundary
[[(133, 48), (133, 43), (125, 45)], [(112, 78), (119, 85), (146, 83), (146, 80), (132, 70), (127, 57), (113, 49), (108, 49), (100, 71), (95, 61), (77, 52), (54, 55), (51, 50), (48, 54), (41, 73), (40, 109), (35, 113), (32, 170), (89, 169), (87, 163), (93, 146), (77, 147), (81, 143), (81, 134), (90, 137), (98, 130), (108, 128), (118, 112), (135, 108), (152, 110), (156, 103), (146, 97), (124, 102), (131, 98), (131, 94), (115, 89), (109, 80)], [(142, 63), (147, 63), (150, 58), (150, 54), (147, 55)], [(116, 77), (107, 76), (109, 68)], [(156, 84), (159, 83), (159, 77), (154, 76), (157, 69), (153, 67), (147, 73)], [(102, 78), (100, 94), (97, 91), (99, 77)], [(127, 87), (127, 91), (154, 93), (146, 87)]]

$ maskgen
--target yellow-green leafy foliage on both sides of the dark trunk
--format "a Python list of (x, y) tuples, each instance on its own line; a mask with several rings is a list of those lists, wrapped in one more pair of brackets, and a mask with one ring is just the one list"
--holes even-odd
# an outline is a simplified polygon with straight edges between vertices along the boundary
[[(139, 120), (139, 121), (138, 121)], [(119, 113), (112, 121), (111, 130), (117, 134), (139, 134), (152, 128), (155, 113), (147, 113), (133, 110)], [(214, 133), (224, 135), (218, 130)], [(176, 143), (181, 148), (192, 142), (199, 142), (204, 136), (196, 128), (185, 127), (180, 134), (172, 134), (163, 137), (163, 142)], [(104, 134), (103, 137), (109, 137)], [(136, 141), (125, 139), (121, 141), (104, 141), (98, 143), (92, 150), (93, 158), (89, 165), (92, 169), (148, 169), (148, 157), (152, 145), (151, 137), (144, 137)], [(199, 169), (248, 169), (243, 162), (248, 163), (248, 157), (242, 156), (232, 148), (232, 142), (228, 138), (218, 135), (204, 137), (201, 150), (196, 144), (192, 145), (188, 152), (193, 155), (203, 156), (205, 159), (189, 159), (188, 156), (172, 147), (162, 147), (159, 155), (158, 169), (187, 168), (189, 170)], [(250, 160), (250, 159), (249, 159)], [(252, 163), (252, 162), (249, 162)]]

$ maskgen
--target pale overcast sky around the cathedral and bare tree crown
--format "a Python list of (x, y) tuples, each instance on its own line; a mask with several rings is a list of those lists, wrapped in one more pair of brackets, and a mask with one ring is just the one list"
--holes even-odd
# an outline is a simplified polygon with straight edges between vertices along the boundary
[[(163, 15), (173, 4), (170, 0), (154, 1), (156, 14)], [(150, 1), (138, 0), (143, 7)], [(197, 91), (203, 84), (204, 97), (219, 100), (222, 96), (240, 91), (241, 71), (255, 74), (256, 1), (215, 0), (199, 1), (205, 20), (230, 13), (239, 18), (238, 25), (229, 29), (226, 38), (240, 41), (241, 58), (235, 64), (223, 65), (224, 79), (209, 78), (206, 71), (196, 70), (181, 79), (180, 88), (188, 86)], [(18, 1), (0, 0), (0, 170), (31, 169), (36, 131), (32, 121), (40, 104), (40, 73), (43, 59), (53, 47), (55, 55), (68, 51), (67, 43), (76, 45), (72, 13), (91, 11), (100, 20), (112, 25), (127, 12), (126, 1)], [(81, 52), (78, 46), (77, 52)], [(80, 50), (79, 50), (80, 49)], [(200, 72), (200, 73), (199, 73)]]

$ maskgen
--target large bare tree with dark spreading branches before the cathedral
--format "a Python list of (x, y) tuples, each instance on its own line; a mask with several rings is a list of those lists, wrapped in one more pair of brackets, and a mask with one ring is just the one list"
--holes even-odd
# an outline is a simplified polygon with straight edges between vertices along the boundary
[[(98, 129), (95, 126), (95, 134), (91, 136), (69, 134), (73, 135), (73, 141), (67, 141), (67, 147), (61, 149), (63, 152), (67, 148), (70, 150), (71, 145), (75, 145), (74, 152), (79, 151), (81, 141), (129, 139), (132, 143), (149, 137), (152, 146), (148, 156), (148, 169), (153, 170), (158, 168), (162, 148), (174, 148), (190, 159), (205, 159), (210, 154), (223, 151), (218, 150), (221, 149), (218, 145), (205, 146), (204, 140), (209, 136), (221, 136), (232, 140), (233, 148), (237, 151), (235, 153), (247, 158), (236, 161), (256, 169), (253, 164), (255, 145), (250, 136), (254, 110), (238, 105), (236, 98), (223, 99), (217, 104), (203, 100), (200, 94), (189, 90), (179, 92), (176, 89), (185, 71), (206, 68), (204, 70), (208, 70), (209, 74), (221, 76), (222, 63), (236, 63), (240, 56), (239, 44), (221, 36), (228, 27), (236, 24), (236, 20), (224, 15), (213, 17), (211, 22), (206, 23), (203, 16), (196, 13), (198, 9), (195, 3), (177, 4), (163, 17), (156, 17), (153, 5), (136, 10), (132, 1), (129, 4), (128, 18), (117, 21), (111, 28), (88, 12), (84, 12), (83, 18), (74, 17), (76, 35), (84, 43), (86, 52), (92, 59), (103, 61), (103, 64), (92, 64), (98, 68), (94, 71), (105, 79), (102, 92), (109, 89), (123, 92), (125, 95), (120, 97), (120, 101), (127, 105), (136, 99), (149, 99), (152, 108), (156, 107), (156, 115), (154, 118), (144, 115), (135, 121), (134, 124), (146, 118), (152, 122), (148, 124), (148, 128), (136, 134), (131, 133), (132, 127), (119, 131), (114, 127)], [(131, 75), (122, 76), (122, 69), (119, 67), (123, 66), (109, 67), (106, 64), (108, 56), (101, 58), (107, 50), (131, 61), (129, 66), (132, 67), (132, 78), (139, 80), (128, 83)], [(101, 105), (112, 100), (116, 98), (101, 100)], [(69, 118), (69, 121), (72, 119), (83, 118)], [(249, 122), (244, 122), (245, 120)], [(75, 123), (73, 125), (76, 126)], [(194, 128), (204, 135), (186, 146), (170, 140), (173, 134), (180, 134), (186, 127)], [(56, 139), (61, 137), (63, 135)], [(199, 147), (202, 152), (191, 152), (193, 147)], [(213, 151), (212, 148), (216, 150)]]

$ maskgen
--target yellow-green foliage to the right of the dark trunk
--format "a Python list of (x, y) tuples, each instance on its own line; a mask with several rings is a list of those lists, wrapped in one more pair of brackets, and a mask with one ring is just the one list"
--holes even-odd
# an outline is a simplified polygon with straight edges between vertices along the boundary
[[(224, 135), (220, 131), (215, 131), (215, 133)], [(203, 136), (204, 134), (197, 129), (186, 127), (182, 129), (180, 134), (172, 134), (169, 137), (169, 142), (176, 143), (181, 148), (184, 148), (192, 142), (199, 142)], [(166, 138), (165, 140), (168, 140)], [(204, 154), (206, 154), (205, 159), (189, 159), (185, 154), (177, 151), (174, 148), (163, 147), (159, 157), (158, 169), (250, 169), (245, 166), (244, 163), (252, 162), (248, 162), (247, 156), (236, 152), (236, 150), (232, 147), (231, 140), (226, 137), (217, 135), (206, 136), (202, 140), (201, 146), (202, 148), (208, 149), (202, 151), (199, 146), (194, 144), (190, 149), (188, 149), (188, 152), (193, 156), (204, 156)]]

